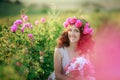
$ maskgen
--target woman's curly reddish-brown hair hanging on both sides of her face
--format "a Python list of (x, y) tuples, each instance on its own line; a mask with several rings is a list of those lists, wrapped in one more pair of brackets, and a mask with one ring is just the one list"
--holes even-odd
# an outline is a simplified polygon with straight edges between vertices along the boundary
[[(94, 41), (92, 39), (91, 34), (83, 34), (84, 25), (85, 25), (85, 23), (87, 23), (87, 21), (85, 21), (83, 19), (81, 21), (83, 22), (83, 25), (81, 28), (79, 28), (80, 39), (78, 41), (76, 50), (80, 51), (80, 54), (84, 54), (84, 53), (88, 53), (89, 51), (93, 50)], [(69, 46), (70, 46), (70, 41), (68, 38), (68, 29), (67, 29), (58, 38), (57, 47), (61, 48), (61, 47), (69, 47)]]

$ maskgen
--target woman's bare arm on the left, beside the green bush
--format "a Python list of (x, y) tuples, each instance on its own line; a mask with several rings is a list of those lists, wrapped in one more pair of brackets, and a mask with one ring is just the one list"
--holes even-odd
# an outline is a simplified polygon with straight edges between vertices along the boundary
[(59, 49), (56, 49), (54, 52), (54, 71), (56, 80), (70, 80), (62, 72), (62, 55)]

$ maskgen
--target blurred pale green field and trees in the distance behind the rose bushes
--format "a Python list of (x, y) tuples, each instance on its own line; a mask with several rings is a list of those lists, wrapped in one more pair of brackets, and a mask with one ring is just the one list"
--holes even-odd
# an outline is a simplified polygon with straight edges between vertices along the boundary
[(89, 20), (97, 19), (104, 22), (102, 18), (106, 18), (109, 21), (119, 22), (119, 3), (120, 0), (1, 0), (0, 24), (8, 24), (9, 19), (19, 16), (23, 9), (28, 15), (34, 17), (52, 14), (54, 17), (84, 16), (87, 19), (91, 17)]

